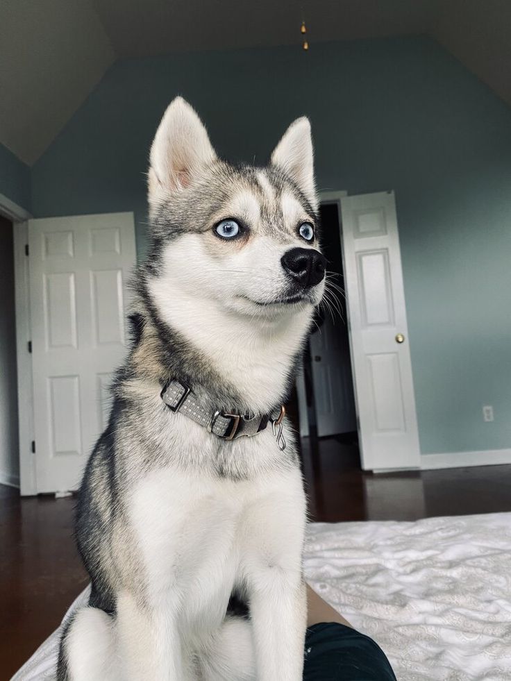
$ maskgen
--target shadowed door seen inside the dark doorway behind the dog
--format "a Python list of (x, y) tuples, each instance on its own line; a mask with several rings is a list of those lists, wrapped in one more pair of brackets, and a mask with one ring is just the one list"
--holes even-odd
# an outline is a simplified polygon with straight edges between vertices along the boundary
[(342, 324), (339, 317), (334, 324), (327, 312), (309, 339), (319, 437), (357, 429), (349, 343)]

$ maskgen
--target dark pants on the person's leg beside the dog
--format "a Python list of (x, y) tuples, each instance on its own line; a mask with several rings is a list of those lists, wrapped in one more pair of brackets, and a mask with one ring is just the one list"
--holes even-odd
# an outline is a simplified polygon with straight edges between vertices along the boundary
[(396, 681), (378, 644), (337, 622), (312, 625), (305, 637), (303, 681)]

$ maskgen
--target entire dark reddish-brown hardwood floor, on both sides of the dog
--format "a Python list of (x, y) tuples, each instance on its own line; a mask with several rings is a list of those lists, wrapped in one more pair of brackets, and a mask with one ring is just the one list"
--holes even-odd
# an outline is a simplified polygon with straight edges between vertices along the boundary
[[(511, 466), (373, 475), (355, 444), (303, 442), (314, 521), (415, 520), (511, 511)], [(72, 539), (73, 498), (20, 499), (0, 485), (0, 681), (58, 626), (87, 584)]]

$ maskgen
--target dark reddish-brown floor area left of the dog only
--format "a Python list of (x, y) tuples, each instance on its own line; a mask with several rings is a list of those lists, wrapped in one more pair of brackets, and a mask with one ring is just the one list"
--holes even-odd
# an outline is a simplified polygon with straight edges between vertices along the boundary
[(58, 626), (87, 575), (72, 539), (73, 498), (0, 485), (0, 680)]

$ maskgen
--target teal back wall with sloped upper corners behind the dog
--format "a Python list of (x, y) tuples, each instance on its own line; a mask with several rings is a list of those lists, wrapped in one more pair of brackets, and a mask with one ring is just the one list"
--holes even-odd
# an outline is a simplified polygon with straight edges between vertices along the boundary
[(265, 162), (305, 113), (320, 189), (395, 190), (421, 451), (511, 447), (511, 111), (426, 37), (125, 60), (33, 168), (35, 215), (134, 210), (142, 254), (176, 94), (228, 158)]

